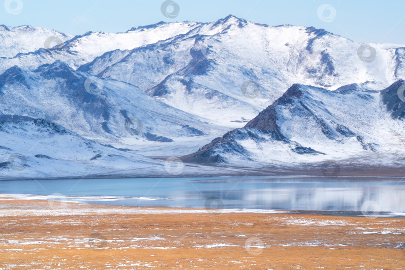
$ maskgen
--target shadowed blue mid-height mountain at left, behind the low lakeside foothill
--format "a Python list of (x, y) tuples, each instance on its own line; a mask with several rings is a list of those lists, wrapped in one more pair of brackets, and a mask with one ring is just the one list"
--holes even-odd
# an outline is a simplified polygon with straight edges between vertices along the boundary
[[(86, 88), (88, 81), (91, 85)], [(91, 94), (89, 87), (96, 85), (98, 94)], [(34, 71), (17, 66), (7, 69), (0, 75), (0, 102), (3, 114), (44, 118), (98, 142), (155, 155), (164, 155), (159, 151), (170, 152), (172, 147), (177, 151), (169, 155), (184, 154), (197, 147), (191, 145), (209, 141), (224, 130), (170, 107), (136, 86), (97, 79), (60, 61)], [(179, 140), (185, 149), (178, 147)]]

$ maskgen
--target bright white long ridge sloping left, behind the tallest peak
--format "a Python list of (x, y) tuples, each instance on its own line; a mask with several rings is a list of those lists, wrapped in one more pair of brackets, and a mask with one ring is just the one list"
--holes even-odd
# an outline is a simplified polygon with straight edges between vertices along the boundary
[(104, 52), (115, 49), (133, 49), (159, 40), (171, 39), (180, 33), (188, 32), (196, 24), (195, 22), (159, 22), (132, 28), (124, 33), (86, 32), (48, 49), (39, 46), (37, 50), (23, 51), (24, 53), (19, 53), (11, 58), (0, 58), (0, 71), (3, 72), (13, 65), (22, 69), (33, 69), (56, 60), (63, 61), (72, 68), (77, 68)]

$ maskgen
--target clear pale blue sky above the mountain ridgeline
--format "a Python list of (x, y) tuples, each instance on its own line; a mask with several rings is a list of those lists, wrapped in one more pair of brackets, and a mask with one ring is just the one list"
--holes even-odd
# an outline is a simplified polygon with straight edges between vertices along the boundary
[[(17, 8), (15, 1), (22, 1), (22, 9)], [(233, 14), (269, 25), (293, 24), (324, 28), (358, 42), (405, 44), (403, 0), (174, 1), (179, 6), (179, 13), (175, 18), (167, 18), (160, 11), (163, 0), (5, 0), (5, 5), (0, 6), (0, 24), (30, 24), (69, 34), (81, 34), (89, 30), (122, 32), (161, 20), (208, 22)], [(328, 4), (326, 10), (320, 13), (324, 21), (317, 15), (322, 4)], [(5, 6), (11, 6), (14, 10), (11, 13), (19, 13), (10, 14)]]

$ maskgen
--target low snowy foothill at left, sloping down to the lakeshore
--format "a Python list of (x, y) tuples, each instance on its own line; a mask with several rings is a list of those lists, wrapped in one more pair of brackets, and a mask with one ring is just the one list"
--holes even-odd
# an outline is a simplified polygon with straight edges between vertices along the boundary
[[(1, 179), (159, 171), (161, 162), (85, 139), (41, 118), (0, 115)], [(143, 173), (142, 172), (142, 173)]]

